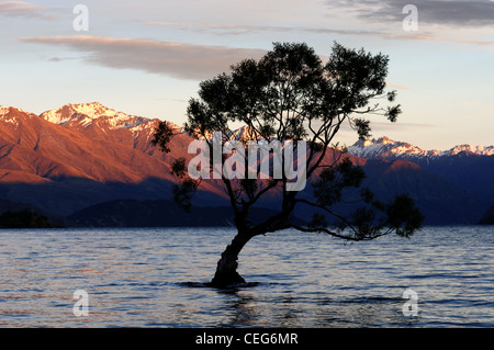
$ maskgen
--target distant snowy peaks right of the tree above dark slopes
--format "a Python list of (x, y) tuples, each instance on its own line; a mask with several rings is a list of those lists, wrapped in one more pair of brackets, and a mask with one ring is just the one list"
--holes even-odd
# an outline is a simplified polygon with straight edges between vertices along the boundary
[(395, 142), (388, 137), (380, 137), (374, 139), (359, 140), (352, 146), (348, 147), (350, 155), (366, 158), (366, 159), (408, 159), (416, 160), (420, 158), (436, 158), (454, 156), (460, 153), (474, 154), (479, 156), (493, 156), (494, 146), (470, 146), (460, 145), (448, 150), (423, 150), (419, 147), (408, 143)]

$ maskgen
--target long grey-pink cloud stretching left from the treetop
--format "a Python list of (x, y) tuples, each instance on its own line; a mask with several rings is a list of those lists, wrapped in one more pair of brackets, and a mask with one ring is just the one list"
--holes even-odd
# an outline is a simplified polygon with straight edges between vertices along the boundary
[(69, 47), (81, 53), (80, 58), (90, 64), (194, 80), (212, 78), (242, 59), (259, 58), (266, 54), (260, 49), (86, 35), (20, 39), (25, 43)]

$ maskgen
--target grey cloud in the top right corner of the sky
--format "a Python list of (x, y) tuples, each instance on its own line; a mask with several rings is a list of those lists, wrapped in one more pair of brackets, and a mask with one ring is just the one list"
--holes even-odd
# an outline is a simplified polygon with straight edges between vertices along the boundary
[(403, 21), (406, 4), (417, 7), (418, 21), (427, 24), (486, 26), (494, 19), (494, 2), (490, 0), (327, 0), (326, 4), (375, 23)]

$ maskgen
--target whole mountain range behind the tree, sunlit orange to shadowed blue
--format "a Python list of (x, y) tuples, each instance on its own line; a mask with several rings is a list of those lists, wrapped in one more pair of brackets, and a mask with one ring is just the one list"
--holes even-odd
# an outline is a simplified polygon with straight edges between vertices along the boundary
[[(193, 157), (187, 154), (192, 138), (173, 137), (171, 151), (164, 154), (150, 144), (158, 123), (98, 102), (67, 104), (40, 115), (0, 106), (0, 212), (34, 207), (66, 225), (88, 226), (177, 225), (173, 217), (190, 225), (200, 225), (193, 219), (200, 217), (209, 217), (210, 224), (231, 222), (226, 194), (213, 180), (201, 183), (194, 214), (177, 214), (170, 202), (177, 183), (170, 163)], [(246, 128), (234, 133), (238, 139), (248, 137)], [(329, 149), (325, 161), (330, 163), (340, 153)], [(382, 137), (356, 143), (346, 156), (363, 167), (364, 185), (378, 196), (409, 193), (426, 224), (475, 224), (494, 204), (493, 146), (424, 151)], [(301, 195), (312, 196), (310, 183)], [(272, 207), (277, 201), (273, 194), (260, 205)], [(125, 215), (117, 215), (119, 207)], [(160, 207), (169, 219), (160, 216)], [(300, 207), (295, 214), (304, 221), (312, 217), (312, 208)]]

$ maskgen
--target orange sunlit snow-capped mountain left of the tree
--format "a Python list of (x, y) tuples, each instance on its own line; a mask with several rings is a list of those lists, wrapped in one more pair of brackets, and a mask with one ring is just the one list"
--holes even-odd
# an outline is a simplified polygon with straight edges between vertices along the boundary
[[(151, 145), (159, 123), (100, 103), (29, 113), (0, 106), (0, 197), (66, 215), (115, 199), (170, 199), (173, 159), (192, 139), (175, 137), (171, 154)], [(198, 201), (222, 193), (201, 184)]]

